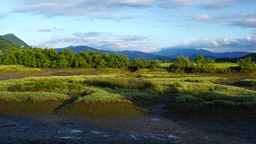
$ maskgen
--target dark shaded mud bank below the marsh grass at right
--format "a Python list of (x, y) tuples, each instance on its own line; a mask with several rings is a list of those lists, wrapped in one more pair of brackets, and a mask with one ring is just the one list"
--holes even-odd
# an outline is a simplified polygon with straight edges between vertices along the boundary
[(232, 120), (232, 119), (255, 119), (254, 108), (227, 108), (214, 106), (196, 106), (193, 103), (172, 102), (164, 107), (168, 110), (168, 117), (182, 120)]

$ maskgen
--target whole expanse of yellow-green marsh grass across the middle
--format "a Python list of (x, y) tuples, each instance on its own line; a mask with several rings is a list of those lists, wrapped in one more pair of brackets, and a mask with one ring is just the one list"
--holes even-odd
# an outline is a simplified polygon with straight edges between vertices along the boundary
[[(191, 102), (198, 106), (256, 107), (255, 91), (212, 83), (226, 80), (229, 79), (178, 75), (169, 72), (28, 77), (18, 80), (1, 80), (0, 99), (14, 102), (44, 102), (68, 100), (67, 95), (75, 95), (79, 96), (74, 101), (76, 104), (120, 102), (132, 104), (134, 100), (154, 100), (163, 94), (175, 93), (176, 102), (181, 104)], [(248, 80), (252, 82), (256, 78)]]

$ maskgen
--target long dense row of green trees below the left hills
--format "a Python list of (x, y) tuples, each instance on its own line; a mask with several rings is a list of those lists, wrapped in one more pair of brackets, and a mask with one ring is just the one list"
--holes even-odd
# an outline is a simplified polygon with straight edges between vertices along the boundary
[(18, 64), (38, 68), (118, 68), (134, 70), (140, 68), (155, 69), (160, 66), (156, 60), (134, 58), (133, 62), (127, 56), (115, 53), (100, 54), (100, 50), (73, 52), (70, 48), (57, 52), (54, 48), (11, 49), (6, 50), (2, 64)]

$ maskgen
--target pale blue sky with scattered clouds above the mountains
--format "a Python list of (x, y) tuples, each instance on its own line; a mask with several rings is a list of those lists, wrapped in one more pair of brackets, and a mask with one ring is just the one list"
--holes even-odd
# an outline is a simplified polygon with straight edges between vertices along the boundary
[(0, 35), (30, 46), (256, 52), (256, 0), (0, 0)]

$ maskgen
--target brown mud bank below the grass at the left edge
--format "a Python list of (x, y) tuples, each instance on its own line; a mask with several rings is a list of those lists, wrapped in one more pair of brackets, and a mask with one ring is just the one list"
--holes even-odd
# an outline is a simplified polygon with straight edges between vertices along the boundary
[(6, 102), (0, 100), (0, 114), (38, 115), (50, 114), (62, 101), (33, 102)]

